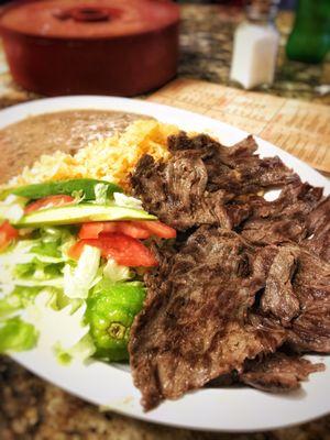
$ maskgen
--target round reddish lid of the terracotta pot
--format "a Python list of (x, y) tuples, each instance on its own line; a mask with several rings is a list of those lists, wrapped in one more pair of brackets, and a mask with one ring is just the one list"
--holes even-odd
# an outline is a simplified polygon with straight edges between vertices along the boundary
[(136, 35), (179, 20), (168, 0), (30, 0), (4, 8), (2, 29), (57, 38)]

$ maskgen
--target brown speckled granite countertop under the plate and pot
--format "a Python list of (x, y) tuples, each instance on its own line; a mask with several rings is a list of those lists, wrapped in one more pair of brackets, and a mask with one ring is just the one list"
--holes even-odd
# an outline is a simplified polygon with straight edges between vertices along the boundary
[[(233, 30), (240, 14), (217, 6), (185, 4), (179, 76), (231, 85), (228, 80)], [(330, 103), (330, 64), (308, 66), (285, 61), (290, 13), (280, 13), (280, 54), (276, 80), (263, 92)], [(2, 57), (2, 58), (1, 58)], [(328, 87), (329, 89), (329, 87)], [(0, 108), (35, 96), (13, 84), (0, 47)], [(262, 417), (262, 415), (261, 415)], [(260, 433), (208, 433), (160, 427), (112, 413), (45, 383), (7, 358), (0, 358), (1, 440), (330, 440), (330, 416), (300, 427)]]

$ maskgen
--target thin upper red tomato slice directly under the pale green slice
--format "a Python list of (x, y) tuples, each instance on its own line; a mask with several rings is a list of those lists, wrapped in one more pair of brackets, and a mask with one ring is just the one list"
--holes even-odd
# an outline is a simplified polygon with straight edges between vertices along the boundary
[(119, 232), (133, 239), (148, 239), (151, 235), (157, 235), (162, 239), (173, 239), (176, 231), (161, 221), (105, 221), (82, 224), (80, 239), (98, 239), (107, 233)]

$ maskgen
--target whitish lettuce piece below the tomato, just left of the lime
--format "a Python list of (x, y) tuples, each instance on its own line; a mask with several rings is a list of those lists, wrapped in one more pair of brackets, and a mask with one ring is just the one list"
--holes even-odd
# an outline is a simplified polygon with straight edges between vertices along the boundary
[(76, 268), (70, 264), (64, 267), (64, 293), (68, 298), (87, 298), (90, 288), (98, 282), (101, 251), (94, 246), (84, 246)]

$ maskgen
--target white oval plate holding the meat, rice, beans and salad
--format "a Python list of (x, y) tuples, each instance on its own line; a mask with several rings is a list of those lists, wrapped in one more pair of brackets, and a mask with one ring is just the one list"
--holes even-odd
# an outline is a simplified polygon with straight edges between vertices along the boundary
[[(29, 116), (72, 109), (118, 110), (148, 114), (160, 121), (174, 123), (183, 130), (208, 131), (221, 143), (231, 145), (246, 132), (189, 111), (156, 103), (98, 96), (42, 99), (11, 107), (0, 112), (0, 129)], [(278, 155), (302, 178), (330, 193), (329, 180), (301, 161), (280, 148), (256, 139), (263, 156)], [(56, 329), (54, 329), (56, 331)], [(200, 389), (176, 402), (165, 402), (144, 414), (140, 393), (133, 386), (128, 369), (92, 362), (59, 365), (51, 352), (35, 349), (14, 354), (14, 360), (38, 376), (113, 411), (143, 420), (193, 429), (221, 431), (270, 430), (305, 422), (330, 411), (330, 356), (310, 356), (327, 364), (323, 373), (316, 373), (302, 388), (287, 395), (273, 395), (252, 388)]]

